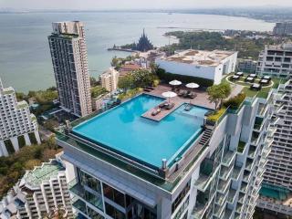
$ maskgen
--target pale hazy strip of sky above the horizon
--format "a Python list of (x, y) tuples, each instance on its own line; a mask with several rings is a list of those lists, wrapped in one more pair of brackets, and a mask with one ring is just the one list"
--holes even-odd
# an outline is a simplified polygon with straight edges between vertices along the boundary
[(16, 9), (179, 9), (261, 5), (292, 7), (292, 0), (0, 0), (0, 8)]

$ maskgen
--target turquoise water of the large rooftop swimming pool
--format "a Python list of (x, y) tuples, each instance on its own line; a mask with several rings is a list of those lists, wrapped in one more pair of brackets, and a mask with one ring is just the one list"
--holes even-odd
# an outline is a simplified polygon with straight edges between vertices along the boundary
[(208, 109), (186, 112), (182, 105), (159, 122), (141, 117), (163, 100), (142, 94), (79, 124), (73, 132), (133, 160), (161, 167), (166, 159), (170, 165), (201, 133)]

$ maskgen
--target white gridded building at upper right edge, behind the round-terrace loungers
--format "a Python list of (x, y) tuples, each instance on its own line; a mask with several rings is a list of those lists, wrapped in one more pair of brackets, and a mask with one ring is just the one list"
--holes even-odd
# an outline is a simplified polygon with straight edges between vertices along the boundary
[(266, 46), (258, 58), (256, 73), (274, 78), (289, 78), (292, 75), (292, 43)]

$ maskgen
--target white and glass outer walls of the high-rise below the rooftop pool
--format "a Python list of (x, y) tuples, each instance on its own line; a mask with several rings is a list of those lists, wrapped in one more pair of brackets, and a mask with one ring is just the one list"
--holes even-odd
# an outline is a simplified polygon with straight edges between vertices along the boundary
[[(87, 218), (92, 218), (92, 211), (107, 219), (113, 215), (131, 219), (139, 214), (153, 219), (252, 218), (266, 165), (268, 99), (246, 99), (239, 110), (226, 114), (214, 127), (206, 126), (192, 146), (207, 138), (202, 151), (193, 155), (190, 149), (183, 155), (185, 163), (178, 162), (173, 172), (178, 178), (171, 175), (165, 181), (135, 168), (132, 162), (119, 164), (123, 161), (120, 155), (105, 159), (93, 152), (99, 151), (98, 145), (60, 133), (57, 144), (64, 148), (63, 159), (75, 170), (73, 206)], [(256, 118), (262, 119), (260, 129), (255, 128)], [(85, 193), (92, 193), (97, 202), (91, 203)]]

